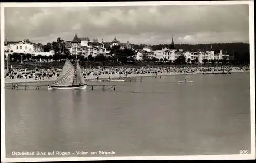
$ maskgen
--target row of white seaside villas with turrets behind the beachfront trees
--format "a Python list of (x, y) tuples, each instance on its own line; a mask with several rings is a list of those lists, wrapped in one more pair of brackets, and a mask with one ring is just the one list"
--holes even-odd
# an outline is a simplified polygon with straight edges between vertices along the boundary
[[(65, 42), (65, 46), (67, 49), (69, 49), (72, 55), (80, 54), (84, 55), (85, 57), (88, 57), (89, 55), (95, 57), (98, 54), (106, 55), (108, 54), (108, 48), (114, 46), (120, 46), (121, 48), (131, 48), (131, 44), (129, 43), (129, 41), (127, 41), (127, 43), (121, 43), (119, 40), (116, 39), (116, 35), (114, 36), (112, 42), (104, 42), (103, 40), (102, 42), (99, 42), (97, 39), (93, 39), (92, 41), (90, 41), (89, 37), (77, 37), (77, 34), (75, 34), (75, 37), (72, 41)], [(142, 55), (145, 52), (149, 52), (150, 57), (155, 57), (159, 60), (166, 58), (167, 60), (174, 61), (180, 55), (184, 55), (186, 57), (186, 60), (190, 59), (190, 61), (198, 59), (198, 63), (203, 63), (204, 59), (221, 60), (224, 57), (227, 60), (229, 59), (227, 51), (221, 49), (214, 50), (212, 48), (212, 45), (210, 49), (208, 49), (208, 46), (206, 45), (206, 49), (203, 49), (203, 51), (198, 50), (193, 52), (188, 50), (183, 51), (182, 49), (177, 49), (175, 47), (173, 38), (168, 48), (165, 47), (160, 50), (153, 50), (152, 47), (145, 46), (142, 49), (136, 51), (137, 60), (142, 60)], [(5, 55), (12, 53), (29, 53), (34, 56), (50, 56), (55, 54), (53, 48), (51, 48), (49, 52), (43, 52), (42, 44), (33, 43), (28, 39), (25, 39), (23, 41), (5, 40)]]

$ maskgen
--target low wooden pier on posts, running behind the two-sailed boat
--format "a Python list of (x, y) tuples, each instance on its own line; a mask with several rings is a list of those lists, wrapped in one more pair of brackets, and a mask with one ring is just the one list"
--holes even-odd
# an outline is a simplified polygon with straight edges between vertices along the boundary
[[(36, 90), (40, 90), (42, 87), (48, 87), (49, 85), (18, 85), (18, 84), (13, 84), (13, 85), (5, 85), (6, 87), (11, 87), (12, 89), (23, 89), (27, 90), (27, 87), (35, 87)], [(20, 88), (21, 87), (21, 88)], [(116, 85), (87, 85), (87, 88), (90, 88), (90, 90), (95, 90), (95, 87), (102, 87), (102, 90), (109, 90), (112, 89), (116, 91)]]

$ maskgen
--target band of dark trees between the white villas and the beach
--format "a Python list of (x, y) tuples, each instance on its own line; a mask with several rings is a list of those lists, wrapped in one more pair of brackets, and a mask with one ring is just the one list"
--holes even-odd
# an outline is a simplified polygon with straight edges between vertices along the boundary
[[(184, 64), (197, 64), (198, 58), (191, 60), (190, 58), (186, 59), (184, 55), (178, 56), (175, 60), (168, 60), (166, 58), (155, 58), (152, 55), (152, 52), (142, 51), (142, 60), (137, 60), (137, 51), (129, 48), (121, 48), (120, 46), (114, 46), (113, 48), (109, 48), (109, 53), (98, 54), (93, 57), (92, 55), (84, 56), (84, 55), (71, 55), (69, 52), (65, 53), (55, 53), (50, 56), (32, 56), (31, 54), (23, 54), (23, 53), (13, 53), (9, 54), (10, 61), (19, 62), (21, 59), (23, 61), (38, 61), (44, 60), (45, 62), (64, 62), (66, 58), (70, 59), (72, 62), (75, 59), (78, 59), (82, 66), (90, 65), (90, 66), (121, 66), (121, 65), (184, 65)], [(5, 56), (6, 58), (6, 56)], [(52, 63), (52, 64), (55, 64)], [(212, 65), (223, 64), (223, 65), (241, 65), (241, 64), (249, 64), (250, 63), (250, 55), (249, 53), (239, 54), (234, 52), (233, 58), (223, 57), (221, 60), (207, 60), (203, 59), (203, 63), (210, 63)]]

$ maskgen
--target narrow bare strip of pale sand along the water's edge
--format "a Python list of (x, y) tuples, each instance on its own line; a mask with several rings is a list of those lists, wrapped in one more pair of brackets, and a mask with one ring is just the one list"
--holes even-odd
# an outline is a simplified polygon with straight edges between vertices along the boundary
[[(241, 71), (241, 70), (231, 70), (230, 73), (242, 73), (242, 72), (250, 72), (248, 71)], [(214, 73), (221, 73), (221, 71), (215, 71)], [(226, 72), (224, 72), (226, 73)], [(156, 76), (172, 76), (172, 75), (195, 75), (195, 74), (201, 74), (200, 72), (195, 73), (157, 73)], [(202, 74), (202, 75), (208, 75), (208, 74)], [(217, 74), (213, 74), (217, 75)], [(138, 77), (152, 77), (153, 75), (151, 73), (147, 74), (129, 74), (127, 78), (138, 78)], [(120, 74), (102, 74), (99, 76), (99, 80), (106, 80), (106, 79), (119, 79)], [(86, 76), (84, 80), (96, 80), (97, 76)], [(43, 82), (53, 82), (57, 79), (57, 77), (52, 77), (51, 79), (44, 79), (44, 80), (35, 80), (35, 79), (7, 79), (5, 78), (5, 84), (24, 84), (24, 83), (43, 83)], [(121, 79), (125, 79), (124, 74), (121, 74)], [(88, 81), (87, 81), (88, 82)]]

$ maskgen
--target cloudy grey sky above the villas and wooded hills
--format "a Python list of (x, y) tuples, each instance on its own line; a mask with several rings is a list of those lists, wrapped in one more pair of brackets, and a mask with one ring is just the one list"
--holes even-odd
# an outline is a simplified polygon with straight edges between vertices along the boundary
[(249, 43), (248, 5), (5, 8), (5, 39), (134, 44)]

